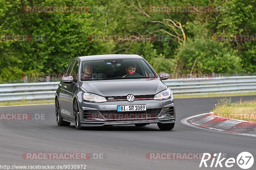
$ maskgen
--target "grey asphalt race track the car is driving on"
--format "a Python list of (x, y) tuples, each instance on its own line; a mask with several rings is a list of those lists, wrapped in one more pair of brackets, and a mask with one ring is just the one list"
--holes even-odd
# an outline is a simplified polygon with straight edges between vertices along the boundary
[[(255, 97), (244, 96), (242, 99)], [(0, 165), (86, 165), (86, 169), (241, 169), (236, 163), (232, 168), (224, 165), (223, 168), (199, 168), (201, 160), (149, 160), (146, 154), (222, 152), (228, 158), (236, 159), (239, 153), (250, 152), (254, 156), (254, 165), (250, 169), (256, 169), (255, 137), (196, 129), (180, 122), (189, 116), (209, 112), (217, 99), (220, 98), (175, 100), (177, 118), (171, 131), (160, 131), (156, 124), (76, 130), (74, 124), (69, 127), (56, 124), (54, 105), (0, 107), (0, 113), (45, 114), (45, 120), (0, 121)], [(240, 97), (232, 97), (232, 101), (235, 100), (240, 100)], [(23, 153), (104, 153), (105, 159), (26, 160), (22, 158)]]

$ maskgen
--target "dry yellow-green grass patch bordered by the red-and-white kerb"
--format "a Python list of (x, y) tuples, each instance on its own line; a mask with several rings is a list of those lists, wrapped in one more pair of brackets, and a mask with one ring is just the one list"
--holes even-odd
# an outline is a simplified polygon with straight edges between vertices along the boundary
[(231, 102), (231, 98), (225, 97), (218, 100), (213, 112), (221, 117), (256, 122), (256, 99)]

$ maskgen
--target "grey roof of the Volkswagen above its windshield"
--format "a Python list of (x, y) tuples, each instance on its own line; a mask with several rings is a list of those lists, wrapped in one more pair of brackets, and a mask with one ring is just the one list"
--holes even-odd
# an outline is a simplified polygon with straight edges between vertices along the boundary
[(77, 57), (81, 61), (89, 61), (89, 60), (106, 60), (106, 59), (141, 59), (140, 55), (135, 54), (107, 54), (107, 55), (88, 55), (88, 56), (80, 56)]

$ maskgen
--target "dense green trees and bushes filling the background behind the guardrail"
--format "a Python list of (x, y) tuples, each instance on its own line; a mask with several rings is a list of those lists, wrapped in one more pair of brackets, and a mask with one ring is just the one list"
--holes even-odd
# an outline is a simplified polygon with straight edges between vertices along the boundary
[[(138, 54), (167, 73), (256, 72), (255, 42), (218, 35), (255, 35), (256, 0), (0, 0), (0, 35), (43, 36), (0, 43), (0, 83), (24, 73), (63, 73), (76, 56)], [(103, 7), (88, 12), (24, 12), (25, 6)], [(149, 6), (212, 6), (228, 11), (150, 12)], [(156, 41), (92, 41), (92, 35), (156, 36)], [(164, 41), (157, 37), (164, 36)], [(159, 39), (162, 40), (162, 39)]]

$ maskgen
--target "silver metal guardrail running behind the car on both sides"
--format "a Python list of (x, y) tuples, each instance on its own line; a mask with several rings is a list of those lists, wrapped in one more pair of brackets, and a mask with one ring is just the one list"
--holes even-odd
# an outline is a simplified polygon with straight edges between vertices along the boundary
[[(256, 91), (256, 76), (212, 79), (168, 79), (163, 81), (174, 94), (207, 94)], [(54, 99), (59, 82), (0, 84), (0, 101)]]

